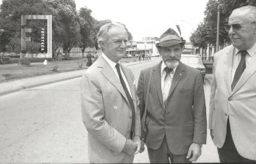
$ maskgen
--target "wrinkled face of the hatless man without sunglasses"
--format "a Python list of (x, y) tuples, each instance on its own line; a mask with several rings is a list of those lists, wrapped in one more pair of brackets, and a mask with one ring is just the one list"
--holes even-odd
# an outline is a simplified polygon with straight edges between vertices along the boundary
[(125, 56), (128, 35), (121, 27), (111, 27), (108, 31), (108, 39), (102, 42), (104, 54), (111, 61), (118, 63)]

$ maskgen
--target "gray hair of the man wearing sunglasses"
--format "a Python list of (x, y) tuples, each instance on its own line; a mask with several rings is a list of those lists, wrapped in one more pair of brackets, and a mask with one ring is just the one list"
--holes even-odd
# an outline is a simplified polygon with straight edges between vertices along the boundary
[(232, 11), (232, 13), (248, 13), (248, 18), (250, 19), (250, 22), (256, 22), (256, 7), (255, 6), (243, 6), (241, 8), (236, 8)]

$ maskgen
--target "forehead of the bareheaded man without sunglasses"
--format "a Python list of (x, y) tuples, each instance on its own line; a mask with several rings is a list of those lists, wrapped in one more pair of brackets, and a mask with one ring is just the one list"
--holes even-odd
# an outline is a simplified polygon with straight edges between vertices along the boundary
[(108, 39), (127, 39), (128, 35), (125, 31), (125, 29), (123, 29), (122, 27), (111, 27), (111, 29), (109, 29), (108, 31)]

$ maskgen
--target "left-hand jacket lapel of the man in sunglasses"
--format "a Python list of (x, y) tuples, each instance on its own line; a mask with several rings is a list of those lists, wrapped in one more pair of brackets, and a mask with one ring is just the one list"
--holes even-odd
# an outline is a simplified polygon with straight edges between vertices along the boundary
[(224, 56), (223, 60), (223, 77), (226, 83), (226, 87), (228, 89), (228, 93), (230, 94), (231, 91), (231, 72), (232, 72), (232, 63), (233, 63), (233, 54), (235, 48), (232, 46), (230, 50), (227, 51), (227, 54)]

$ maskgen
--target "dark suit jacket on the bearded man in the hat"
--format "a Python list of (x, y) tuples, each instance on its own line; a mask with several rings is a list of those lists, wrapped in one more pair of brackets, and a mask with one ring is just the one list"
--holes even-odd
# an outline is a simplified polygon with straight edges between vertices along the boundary
[(206, 143), (207, 121), (202, 75), (200, 71), (180, 62), (164, 104), (160, 71), (161, 63), (142, 70), (138, 82), (141, 126), (144, 131), (147, 129), (147, 137), (144, 136), (146, 144), (151, 149), (157, 149), (166, 135), (168, 147), (173, 154), (186, 154), (192, 142)]

